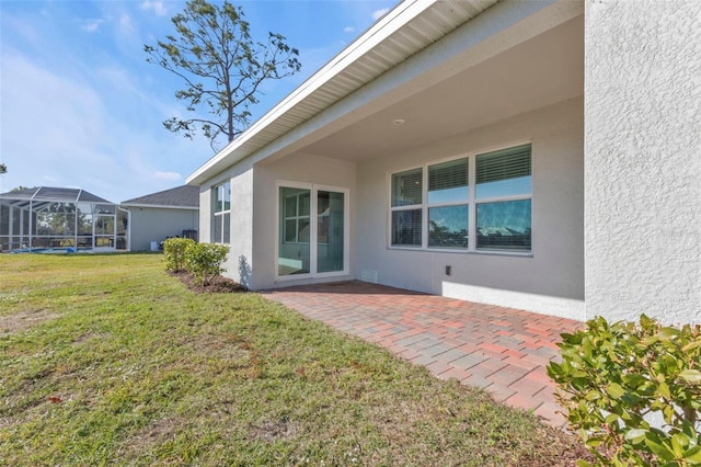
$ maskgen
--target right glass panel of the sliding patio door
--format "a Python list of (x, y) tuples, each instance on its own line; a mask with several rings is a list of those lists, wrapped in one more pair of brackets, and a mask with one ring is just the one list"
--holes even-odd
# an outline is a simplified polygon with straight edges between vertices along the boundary
[(317, 193), (317, 272), (344, 270), (344, 207), (343, 193)]

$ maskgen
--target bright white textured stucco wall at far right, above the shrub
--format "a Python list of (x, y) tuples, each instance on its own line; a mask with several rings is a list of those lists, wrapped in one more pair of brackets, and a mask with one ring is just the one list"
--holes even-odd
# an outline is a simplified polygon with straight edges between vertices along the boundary
[(585, 14), (587, 317), (701, 322), (701, 2)]

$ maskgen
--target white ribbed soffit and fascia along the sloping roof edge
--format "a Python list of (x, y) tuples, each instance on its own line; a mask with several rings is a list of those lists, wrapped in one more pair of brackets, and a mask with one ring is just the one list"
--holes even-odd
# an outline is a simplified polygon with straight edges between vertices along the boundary
[(406, 0), (400, 3), (191, 174), (186, 183), (204, 183), (440, 39), (497, 1)]

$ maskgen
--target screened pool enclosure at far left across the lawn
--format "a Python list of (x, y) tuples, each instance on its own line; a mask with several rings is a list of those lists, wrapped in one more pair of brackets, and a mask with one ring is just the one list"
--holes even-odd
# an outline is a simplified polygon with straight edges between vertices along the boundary
[(126, 249), (128, 213), (79, 189), (0, 194), (0, 252)]

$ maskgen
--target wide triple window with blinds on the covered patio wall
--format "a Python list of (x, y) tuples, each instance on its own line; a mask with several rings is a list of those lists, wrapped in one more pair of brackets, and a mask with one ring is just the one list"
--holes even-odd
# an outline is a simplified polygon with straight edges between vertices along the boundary
[(530, 144), (393, 173), (390, 243), (529, 252), (531, 192)]

